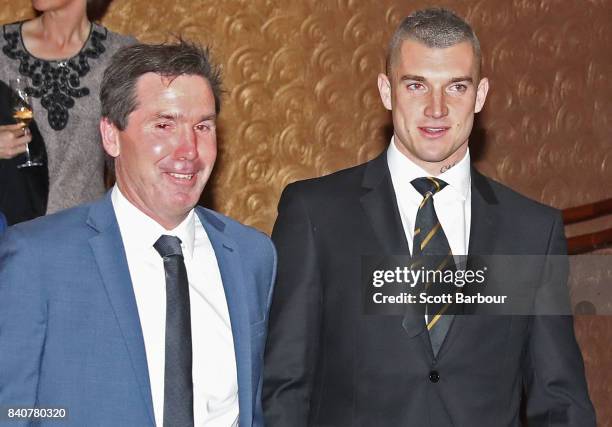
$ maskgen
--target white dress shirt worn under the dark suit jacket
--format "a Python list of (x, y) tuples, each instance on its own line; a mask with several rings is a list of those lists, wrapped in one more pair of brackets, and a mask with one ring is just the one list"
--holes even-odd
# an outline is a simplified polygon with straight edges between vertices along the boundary
[[(423, 196), (410, 183), (415, 178), (431, 176), (404, 156), (395, 145), (387, 149), (387, 163), (397, 198), (404, 233), (412, 253), (414, 223)], [(455, 166), (436, 176), (448, 185), (434, 195), (434, 208), (454, 256), (467, 255), (472, 214), (472, 190), (469, 150)], [(456, 259), (457, 261), (457, 259)]]

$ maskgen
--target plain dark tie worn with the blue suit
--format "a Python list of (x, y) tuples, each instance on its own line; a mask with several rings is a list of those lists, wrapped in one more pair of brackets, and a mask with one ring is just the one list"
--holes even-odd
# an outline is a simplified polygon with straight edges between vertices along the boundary
[(193, 426), (191, 312), (181, 240), (163, 235), (153, 247), (164, 259), (166, 272), (164, 427), (189, 427)]

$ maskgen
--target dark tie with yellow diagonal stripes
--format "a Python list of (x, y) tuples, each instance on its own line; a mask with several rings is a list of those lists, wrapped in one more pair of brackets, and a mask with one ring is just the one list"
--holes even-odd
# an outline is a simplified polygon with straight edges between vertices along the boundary
[[(447, 183), (438, 178), (416, 178), (412, 186), (421, 193), (423, 200), (419, 205), (414, 224), (414, 240), (412, 256), (415, 263), (422, 266), (425, 271), (455, 270), (453, 254), (442, 229), (442, 225), (434, 208), (434, 195), (446, 187)], [(454, 292), (454, 285), (442, 286), (440, 283), (425, 283), (427, 295), (442, 295)], [(427, 330), (434, 355), (437, 355), (446, 333), (452, 323), (453, 316), (449, 313), (452, 306), (449, 304), (428, 304), (425, 307)]]

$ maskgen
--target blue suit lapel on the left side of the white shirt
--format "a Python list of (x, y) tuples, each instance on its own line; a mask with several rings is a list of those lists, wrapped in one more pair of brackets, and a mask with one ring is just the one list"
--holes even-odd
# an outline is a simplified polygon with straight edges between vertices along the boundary
[(110, 192), (107, 193), (102, 201), (93, 204), (89, 211), (87, 224), (98, 231), (96, 236), (89, 239), (89, 244), (98, 264), (106, 295), (125, 340), (151, 424), (155, 424), (149, 370), (138, 307), (110, 194)]

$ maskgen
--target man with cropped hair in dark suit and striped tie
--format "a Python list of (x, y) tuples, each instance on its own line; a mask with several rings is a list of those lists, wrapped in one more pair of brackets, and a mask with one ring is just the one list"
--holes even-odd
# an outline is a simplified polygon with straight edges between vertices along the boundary
[(570, 316), (364, 313), (366, 255), (565, 252), (559, 212), (471, 167), (489, 83), (467, 23), (442, 9), (407, 17), (378, 87), (386, 152), (291, 184), (279, 203), (266, 426), (509, 427), (521, 405), (530, 426), (594, 426)]

